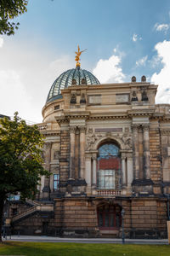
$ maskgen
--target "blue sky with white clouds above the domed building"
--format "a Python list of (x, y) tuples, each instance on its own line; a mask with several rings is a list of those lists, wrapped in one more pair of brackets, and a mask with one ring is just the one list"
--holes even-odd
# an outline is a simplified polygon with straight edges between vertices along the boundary
[(170, 103), (169, 0), (30, 0), (14, 36), (0, 37), (0, 113), (42, 122), (48, 90), (75, 67), (100, 83), (159, 84), (156, 102)]

